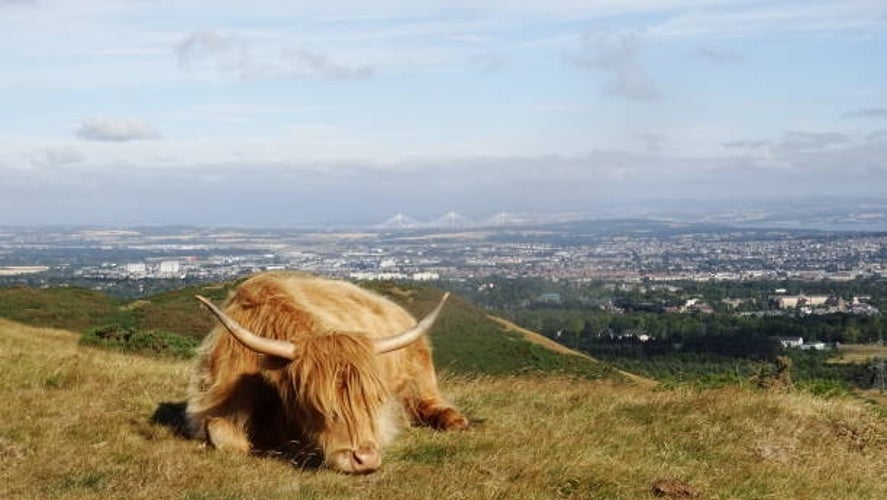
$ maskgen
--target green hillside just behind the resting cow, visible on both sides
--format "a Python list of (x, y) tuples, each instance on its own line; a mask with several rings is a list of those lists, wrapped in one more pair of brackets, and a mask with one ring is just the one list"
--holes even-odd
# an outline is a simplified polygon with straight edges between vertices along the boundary
[[(130, 330), (160, 330), (202, 338), (215, 325), (215, 319), (194, 300), (194, 295), (221, 302), (232, 286), (232, 283), (222, 283), (188, 287), (129, 303), (77, 288), (0, 289), (0, 316), (34, 326), (77, 332), (118, 324)], [(392, 297), (417, 317), (431, 310), (441, 296), (440, 291), (432, 288), (405, 289), (390, 283), (369, 286)], [(24, 303), (27, 306), (22, 306)], [(454, 373), (621, 376), (607, 364), (529, 342), (458, 297), (450, 299), (431, 338), (435, 362)]]

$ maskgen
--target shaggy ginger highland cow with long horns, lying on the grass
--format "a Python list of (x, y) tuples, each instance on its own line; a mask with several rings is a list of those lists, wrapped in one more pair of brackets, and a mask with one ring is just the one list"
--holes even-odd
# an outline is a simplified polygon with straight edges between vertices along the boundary
[(418, 323), (356, 285), (263, 273), (224, 306), (203, 341), (188, 393), (194, 437), (221, 450), (322, 454), (367, 473), (407, 419), (436, 429), (468, 421), (440, 395), (425, 335), (447, 296)]

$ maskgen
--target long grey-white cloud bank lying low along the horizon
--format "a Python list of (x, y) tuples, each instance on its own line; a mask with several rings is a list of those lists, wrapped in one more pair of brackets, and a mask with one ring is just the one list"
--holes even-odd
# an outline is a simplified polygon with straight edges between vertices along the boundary
[[(656, 134), (641, 137), (654, 143), (660, 139)], [(825, 145), (812, 149), (816, 141)], [(297, 220), (379, 222), (397, 212), (426, 217), (452, 209), (473, 214), (589, 211), (627, 199), (728, 201), (835, 190), (859, 196), (887, 194), (880, 182), (887, 174), (883, 136), (793, 132), (770, 141), (727, 144), (734, 147), (731, 154), (711, 157), (663, 148), (650, 153), (438, 155), (385, 162), (373, 156), (275, 159), (253, 151), (242, 158), (220, 156), (205, 162), (197, 157), (133, 161), (126, 164), (126, 175), (113, 157), (97, 162), (94, 151), (87, 151), (90, 161), (80, 161), (75, 151), (62, 148), (40, 154), (47, 163), (67, 162), (76, 168), (56, 169), (52, 176), (38, 169), (7, 172), (4, 179), (10, 182), (0, 184), (0, 199), (27, 200), (36, 207), (29, 217), (39, 223), (58, 222), (54, 217), (63, 216), (72, 223), (288, 225)], [(151, 145), (138, 145), (142, 146)], [(138, 190), (132, 190), (134, 183)], [(226, 201), (231, 199), (250, 203), (232, 205)], [(60, 200), (71, 201), (81, 212), (58, 214), (54, 207)]]

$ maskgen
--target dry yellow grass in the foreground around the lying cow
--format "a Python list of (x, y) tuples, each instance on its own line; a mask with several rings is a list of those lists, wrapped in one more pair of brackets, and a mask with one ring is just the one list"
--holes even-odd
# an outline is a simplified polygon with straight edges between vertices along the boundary
[(0, 498), (887, 498), (887, 422), (856, 400), (449, 376), (475, 426), (406, 429), (352, 477), (226, 455), (151, 423), (188, 363), (0, 320)]

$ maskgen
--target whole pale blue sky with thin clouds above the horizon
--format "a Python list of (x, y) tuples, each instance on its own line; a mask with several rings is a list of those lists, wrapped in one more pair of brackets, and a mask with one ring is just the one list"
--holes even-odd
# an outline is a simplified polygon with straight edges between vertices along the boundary
[(887, 200), (883, 0), (0, 0), (0, 225)]

